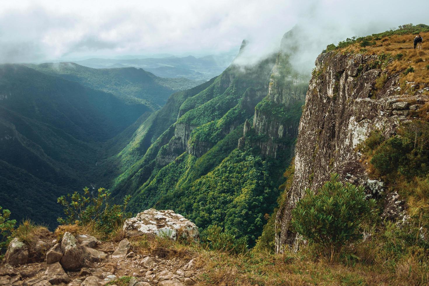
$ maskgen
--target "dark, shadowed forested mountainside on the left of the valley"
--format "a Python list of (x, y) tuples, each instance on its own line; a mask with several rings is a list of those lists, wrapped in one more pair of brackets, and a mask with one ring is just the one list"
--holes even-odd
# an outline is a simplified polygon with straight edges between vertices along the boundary
[[(88, 75), (87, 80), (97, 78)], [(172, 90), (161, 86), (161, 93), (167, 92)], [(54, 226), (60, 211), (57, 197), (85, 185), (107, 185), (117, 172), (106, 166), (112, 173), (97, 177), (102, 173), (97, 162), (109, 154), (106, 146), (124, 148), (122, 142), (135, 131), (133, 123), (152, 110), (27, 66), (1, 65), (2, 205), (16, 218)]]

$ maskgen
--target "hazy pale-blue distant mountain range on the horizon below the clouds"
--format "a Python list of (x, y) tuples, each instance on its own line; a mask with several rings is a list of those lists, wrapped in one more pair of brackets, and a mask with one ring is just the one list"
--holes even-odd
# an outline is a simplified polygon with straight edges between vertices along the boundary
[(221, 74), (230, 65), (235, 56), (236, 53), (215, 54), (205, 57), (168, 56), (146, 58), (136, 56), (133, 59), (130, 58), (131, 56), (123, 56), (115, 59), (91, 58), (72, 62), (94, 69), (142, 68), (162, 78), (188, 78), (202, 82)]

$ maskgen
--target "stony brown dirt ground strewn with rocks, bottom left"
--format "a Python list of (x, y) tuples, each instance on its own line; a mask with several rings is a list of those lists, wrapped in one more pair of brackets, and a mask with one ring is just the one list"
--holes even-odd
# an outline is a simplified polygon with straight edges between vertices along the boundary
[[(87, 237), (97, 241), (89, 235)], [(84, 248), (84, 262), (79, 269), (64, 271), (64, 261), (52, 262), (56, 260), (52, 258), (55, 257), (52, 254), (54, 245), (43, 262), (3, 265), (0, 268), (0, 285), (182, 286), (196, 284), (196, 276), (200, 273), (192, 253), (174, 257), (162, 248), (158, 250), (159, 255), (135, 253), (127, 239), (117, 245), (101, 241), (85, 245), (80, 241), (80, 247)], [(52, 263), (48, 264), (48, 261)], [(67, 259), (67, 263), (73, 263), (73, 259)]]

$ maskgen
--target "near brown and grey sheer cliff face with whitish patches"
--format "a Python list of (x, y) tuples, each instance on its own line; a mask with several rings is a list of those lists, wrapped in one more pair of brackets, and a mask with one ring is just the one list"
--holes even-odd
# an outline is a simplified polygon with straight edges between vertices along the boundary
[[(427, 98), (424, 90), (402, 94), (400, 74), (387, 74), (378, 63), (377, 55), (331, 51), (317, 57), (299, 122), (293, 184), (276, 216), (277, 252), (295, 242), (290, 212), (304, 189), (317, 190), (332, 172), (363, 184), (372, 196), (383, 192), (383, 183), (369, 178), (356, 146), (375, 129), (386, 138), (393, 135)], [(376, 88), (380, 78), (384, 87)]]

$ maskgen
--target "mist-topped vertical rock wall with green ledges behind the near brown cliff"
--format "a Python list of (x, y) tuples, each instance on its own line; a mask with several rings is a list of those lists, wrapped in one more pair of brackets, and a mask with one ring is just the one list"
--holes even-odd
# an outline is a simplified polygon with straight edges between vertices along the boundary
[[(288, 33), (284, 36), (286, 38)], [(301, 106), (305, 100), (309, 78), (294, 71), (289, 58), (293, 51), (278, 53), (270, 78), (268, 95), (256, 106), (253, 129), (258, 138), (252, 145), (264, 157), (278, 156), (279, 151), (293, 154), (292, 141), (298, 134)], [(242, 145), (245, 137), (240, 139)]]

